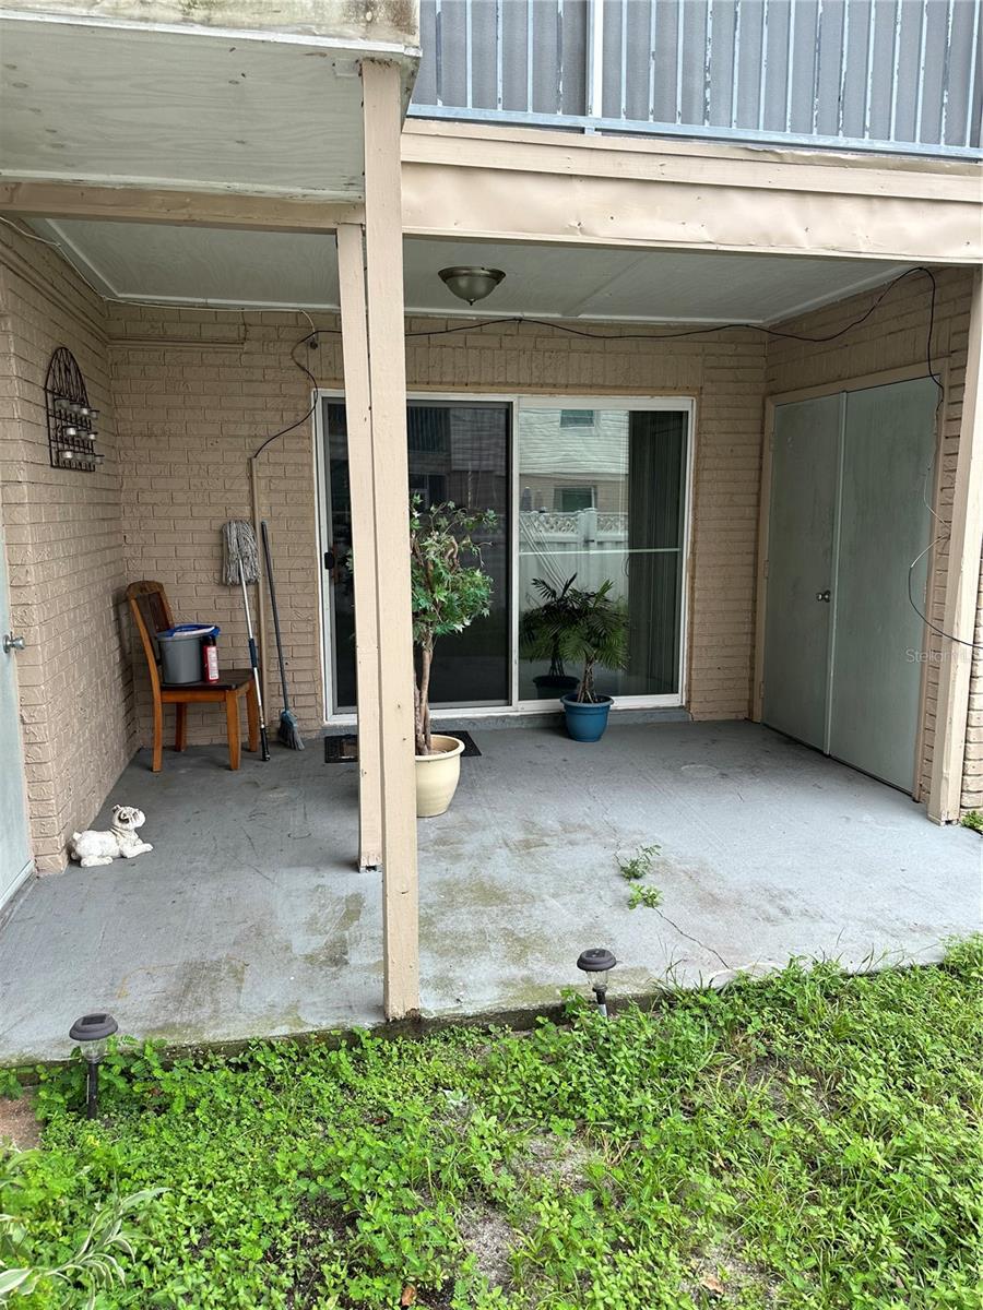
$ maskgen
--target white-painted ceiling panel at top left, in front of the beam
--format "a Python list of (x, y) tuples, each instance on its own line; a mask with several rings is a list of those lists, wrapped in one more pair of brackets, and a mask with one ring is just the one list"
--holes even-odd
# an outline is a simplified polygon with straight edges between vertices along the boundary
[(0, 42), (0, 176), (362, 195), (351, 51), (14, 18)]

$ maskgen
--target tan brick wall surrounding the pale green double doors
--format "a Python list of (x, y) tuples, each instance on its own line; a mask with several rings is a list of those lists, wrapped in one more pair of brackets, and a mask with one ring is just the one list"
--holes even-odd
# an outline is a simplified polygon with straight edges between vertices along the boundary
[[(945, 537), (945, 525), (952, 519), (955, 456), (959, 445), (973, 271), (969, 269), (938, 269), (935, 271), (938, 292), (932, 335), (932, 363), (937, 369), (944, 367), (946, 369), (946, 390), (941, 414), (942, 457), (936, 510), (942, 520), (940, 534)], [(828, 305), (815, 313), (790, 320), (781, 324), (781, 328), (810, 337), (831, 335), (860, 317), (869, 308), (870, 300), (872, 295), (866, 292)], [(891, 291), (883, 305), (865, 324), (839, 341), (826, 345), (769, 341), (768, 393), (780, 394), (851, 377), (862, 377), (868, 373), (923, 364), (927, 358), (929, 307), (928, 279), (911, 276)], [(936, 548), (929, 609), (932, 624), (937, 626), (941, 626), (944, 620), (946, 567), (948, 542), (942, 540)], [(983, 591), (980, 607), (983, 607)], [(929, 633), (925, 728), (920, 770), (923, 793), (928, 791), (932, 772), (940, 643), (941, 638)], [(980, 802), (983, 802), (983, 667), (976, 662), (963, 779), (963, 804), (969, 807)]]

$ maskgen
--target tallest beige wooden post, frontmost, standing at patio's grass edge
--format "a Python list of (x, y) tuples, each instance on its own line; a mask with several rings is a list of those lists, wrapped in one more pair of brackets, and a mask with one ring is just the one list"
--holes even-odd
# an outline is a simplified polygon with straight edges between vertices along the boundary
[(419, 1009), (419, 912), (397, 66), (364, 60), (362, 90), (366, 321), (380, 638), (384, 1003), (387, 1018), (398, 1019)]

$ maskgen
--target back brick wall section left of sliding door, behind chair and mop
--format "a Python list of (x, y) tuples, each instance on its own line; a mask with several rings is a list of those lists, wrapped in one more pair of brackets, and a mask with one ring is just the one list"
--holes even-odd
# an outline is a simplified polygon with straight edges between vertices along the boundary
[[(126, 572), (131, 580), (164, 583), (178, 622), (219, 624), (227, 668), (246, 667), (248, 651), (241, 593), (220, 582), (222, 527), (228, 519), (252, 519), (249, 455), (311, 406), (309, 383), (290, 359), (303, 330), (301, 320), (283, 314), (244, 320), (110, 307)], [(334, 379), (333, 345), (325, 342), (318, 355), (329, 360)], [(258, 478), (261, 514), (273, 533), (291, 690), (307, 728), (322, 720), (311, 428), (305, 421), (274, 441)], [(269, 631), (271, 638), (271, 622)], [(132, 650), (139, 744), (147, 745), (147, 672), (136, 645)], [(270, 642), (271, 660), (273, 650)], [(277, 697), (278, 706), (279, 692)], [(173, 711), (165, 711), (165, 734), (172, 728)], [(193, 743), (224, 740), (222, 707), (189, 707), (187, 728)]]

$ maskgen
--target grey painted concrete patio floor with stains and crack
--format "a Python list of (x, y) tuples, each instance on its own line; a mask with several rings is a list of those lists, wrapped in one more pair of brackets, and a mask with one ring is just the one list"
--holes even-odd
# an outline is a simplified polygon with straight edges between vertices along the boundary
[[(472, 726), (451, 811), (419, 825), (423, 1013), (556, 1002), (586, 946), (613, 989), (835, 955), (931, 960), (980, 927), (980, 838), (750, 723)], [(0, 927), (0, 1062), (68, 1053), (85, 1010), (172, 1043), (381, 1020), (380, 879), (359, 874), (357, 777), (303, 753), (142, 752), (113, 803), (151, 854), (33, 880)], [(659, 909), (628, 909), (616, 852), (658, 842)]]

